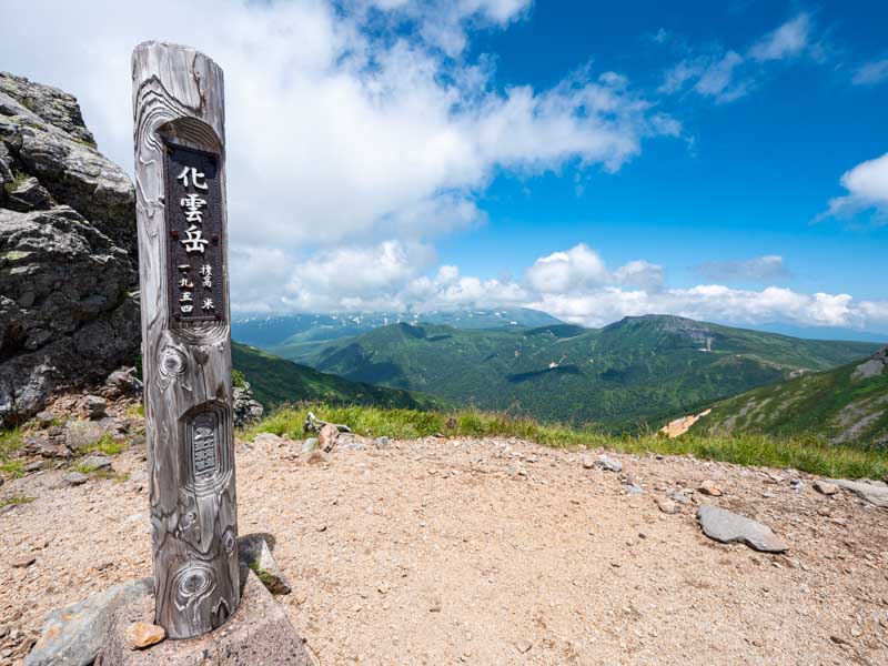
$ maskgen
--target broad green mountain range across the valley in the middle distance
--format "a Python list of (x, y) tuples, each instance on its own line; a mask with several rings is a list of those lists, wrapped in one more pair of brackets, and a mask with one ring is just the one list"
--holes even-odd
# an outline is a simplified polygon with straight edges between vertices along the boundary
[(297, 357), (352, 381), (423, 391), (456, 404), (632, 430), (876, 349), (648, 315), (599, 330), (396, 324)]

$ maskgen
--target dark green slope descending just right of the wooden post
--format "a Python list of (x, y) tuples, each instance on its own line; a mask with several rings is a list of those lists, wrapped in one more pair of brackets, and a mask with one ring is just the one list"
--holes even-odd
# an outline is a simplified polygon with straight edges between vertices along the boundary
[(244, 374), (253, 389), (253, 395), (266, 408), (302, 401), (411, 410), (442, 405), (440, 401), (427, 395), (351, 382), (236, 342), (232, 342), (231, 356), (233, 367)]

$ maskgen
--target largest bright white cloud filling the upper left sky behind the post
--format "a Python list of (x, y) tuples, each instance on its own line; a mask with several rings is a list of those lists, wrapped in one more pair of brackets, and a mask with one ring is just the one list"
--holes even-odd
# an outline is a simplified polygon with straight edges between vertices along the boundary
[[(129, 167), (132, 48), (161, 39), (214, 58), (226, 85), (230, 246), (241, 253), (231, 283), (245, 302), (263, 252), (295, 261), (343, 242), (430, 242), (484, 223), (476, 201), (500, 171), (615, 171), (646, 138), (680, 133), (613, 72), (495, 90), (493, 59), (471, 60), (466, 40), (529, 7), (34, 0), (17, 7), (0, 62), (77, 94), (100, 148)], [(281, 284), (268, 285), (279, 299)]]

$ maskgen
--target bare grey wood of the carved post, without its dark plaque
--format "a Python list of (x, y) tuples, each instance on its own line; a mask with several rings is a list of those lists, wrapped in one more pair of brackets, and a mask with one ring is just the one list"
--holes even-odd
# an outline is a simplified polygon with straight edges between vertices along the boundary
[[(223, 624), (239, 603), (228, 261), (223, 243), (222, 320), (173, 325), (163, 151), (174, 143), (219, 155), (226, 239), (223, 79), (202, 53), (152, 41), (133, 51), (132, 80), (155, 623), (190, 638)], [(211, 472), (205, 451), (196, 465), (192, 450), (195, 441), (205, 447), (208, 430)]]

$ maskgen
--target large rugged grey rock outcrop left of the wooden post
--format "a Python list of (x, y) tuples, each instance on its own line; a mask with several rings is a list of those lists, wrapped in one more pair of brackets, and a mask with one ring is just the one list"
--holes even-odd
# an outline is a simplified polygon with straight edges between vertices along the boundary
[(0, 72), (0, 424), (139, 351), (135, 198), (77, 100)]

